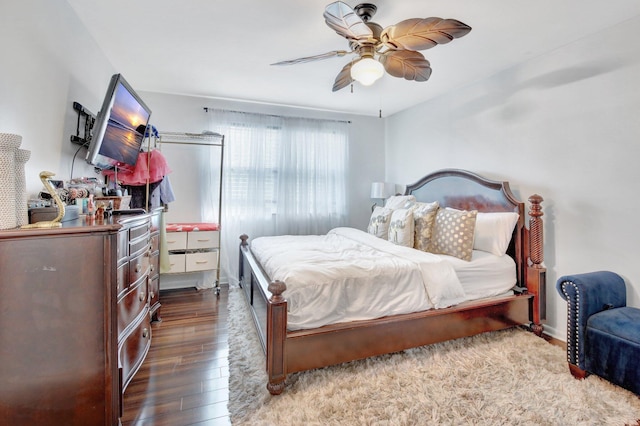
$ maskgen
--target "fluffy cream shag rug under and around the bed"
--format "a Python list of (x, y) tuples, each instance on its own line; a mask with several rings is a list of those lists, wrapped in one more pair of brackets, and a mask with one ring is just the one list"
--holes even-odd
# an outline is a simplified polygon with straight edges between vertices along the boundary
[(244, 295), (229, 289), (233, 425), (640, 425), (640, 398), (522, 329), (295, 373), (271, 396)]

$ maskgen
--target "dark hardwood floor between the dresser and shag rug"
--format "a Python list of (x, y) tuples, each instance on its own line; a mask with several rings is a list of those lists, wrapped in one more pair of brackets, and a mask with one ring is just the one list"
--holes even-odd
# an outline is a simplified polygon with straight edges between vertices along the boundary
[(123, 426), (230, 425), (228, 287), (160, 294), (149, 354), (124, 394)]

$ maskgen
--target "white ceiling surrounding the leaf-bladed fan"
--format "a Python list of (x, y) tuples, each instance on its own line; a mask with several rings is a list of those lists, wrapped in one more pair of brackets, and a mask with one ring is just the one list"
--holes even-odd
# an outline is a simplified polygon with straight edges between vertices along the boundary
[(348, 50), (324, 22), (330, 0), (67, 1), (136, 90), (371, 116), (389, 116), (640, 15), (638, 0), (373, 0), (372, 20), (382, 27), (438, 16), (473, 30), (422, 52), (433, 69), (429, 81), (385, 75), (370, 87), (355, 83), (351, 93), (331, 91), (351, 56), (269, 65)]

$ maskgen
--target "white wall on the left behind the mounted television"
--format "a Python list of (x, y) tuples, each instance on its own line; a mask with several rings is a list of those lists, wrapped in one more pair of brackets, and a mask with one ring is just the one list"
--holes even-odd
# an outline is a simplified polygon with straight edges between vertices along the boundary
[[(36, 194), (43, 170), (70, 178), (73, 102), (97, 113), (114, 70), (64, 0), (2, 2), (0, 40), (0, 132), (23, 137), (27, 190)], [(74, 177), (97, 176), (82, 151)]]

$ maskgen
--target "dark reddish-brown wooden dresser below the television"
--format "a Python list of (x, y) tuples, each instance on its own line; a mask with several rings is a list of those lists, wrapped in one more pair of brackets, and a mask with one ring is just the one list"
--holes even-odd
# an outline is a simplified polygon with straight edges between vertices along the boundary
[(3, 422), (119, 424), (160, 307), (160, 212), (0, 231)]

